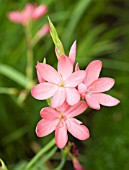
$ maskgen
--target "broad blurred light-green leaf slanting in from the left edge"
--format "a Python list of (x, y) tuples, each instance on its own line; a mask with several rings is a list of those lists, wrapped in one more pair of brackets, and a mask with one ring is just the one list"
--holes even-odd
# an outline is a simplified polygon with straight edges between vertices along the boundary
[(24, 88), (27, 87), (27, 78), (11, 66), (0, 64), (0, 74), (3, 74), (4, 76), (10, 78)]

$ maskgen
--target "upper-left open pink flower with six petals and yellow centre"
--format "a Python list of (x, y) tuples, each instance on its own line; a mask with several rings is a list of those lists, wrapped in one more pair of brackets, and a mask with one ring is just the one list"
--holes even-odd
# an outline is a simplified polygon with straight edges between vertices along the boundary
[(48, 64), (38, 63), (38, 73), (47, 82), (33, 87), (32, 96), (38, 100), (44, 100), (53, 96), (51, 106), (56, 108), (65, 101), (69, 105), (79, 102), (80, 94), (76, 89), (85, 78), (85, 71), (73, 72), (71, 60), (62, 56), (58, 62), (58, 72)]

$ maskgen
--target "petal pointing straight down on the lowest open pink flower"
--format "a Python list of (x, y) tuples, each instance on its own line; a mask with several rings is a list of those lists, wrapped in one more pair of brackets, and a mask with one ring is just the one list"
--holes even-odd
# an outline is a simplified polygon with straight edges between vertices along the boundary
[(63, 121), (60, 122), (60, 124), (56, 127), (55, 139), (56, 139), (56, 144), (60, 149), (65, 147), (68, 141), (67, 128), (65, 122)]

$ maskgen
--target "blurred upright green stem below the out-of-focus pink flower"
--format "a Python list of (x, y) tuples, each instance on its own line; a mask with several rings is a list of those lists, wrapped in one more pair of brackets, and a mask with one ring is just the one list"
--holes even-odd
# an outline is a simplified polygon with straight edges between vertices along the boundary
[(26, 75), (28, 78), (28, 88), (31, 88), (30, 80), (33, 80), (33, 46), (32, 46), (32, 37), (30, 24), (25, 25), (26, 41), (27, 41), (27, 66), (26, 66)]

